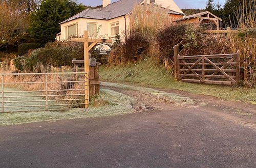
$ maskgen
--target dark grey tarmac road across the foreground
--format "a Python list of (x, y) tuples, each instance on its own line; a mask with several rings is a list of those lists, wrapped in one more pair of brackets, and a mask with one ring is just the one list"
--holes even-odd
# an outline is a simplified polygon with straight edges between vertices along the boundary
[(209, 110), (2, 126), (0, 167), (256, 167), (255, 128)]

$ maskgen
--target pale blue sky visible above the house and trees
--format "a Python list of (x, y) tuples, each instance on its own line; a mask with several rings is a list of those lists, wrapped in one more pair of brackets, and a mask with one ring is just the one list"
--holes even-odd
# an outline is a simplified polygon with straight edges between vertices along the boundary
[[(97, 6), (102, 4), (102, 0), (77, 0), (79, 3), (88, 6)], [(111, 2), (116, 2), (118, 0), (111, 0)], [(129, 0), (126, 0), (129, 1)], [(195, 8), (195, 9), (204, 9), (207, 0), (174, 0), (176, 4), (181, 8)], [(215, 3), (220, 2), (220, 4), (224, 4), (225, 0), (215, 0)]]

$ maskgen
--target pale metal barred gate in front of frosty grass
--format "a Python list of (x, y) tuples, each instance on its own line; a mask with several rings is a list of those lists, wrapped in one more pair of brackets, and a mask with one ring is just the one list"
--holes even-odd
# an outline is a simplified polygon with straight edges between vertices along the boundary
[(1, 73), (0, 76), (0, 113), (63, 110), (89, 104), (89, 79), (85, 72)]

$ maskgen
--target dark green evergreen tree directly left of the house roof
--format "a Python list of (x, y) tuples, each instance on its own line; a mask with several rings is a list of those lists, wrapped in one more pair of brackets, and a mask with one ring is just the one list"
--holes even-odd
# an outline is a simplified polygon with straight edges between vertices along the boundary
[(30, 16), (29, 34), (35, 41), (46, 44), (60, 32), (59, 23), (84, 10), (74, 0), (45, 0)]

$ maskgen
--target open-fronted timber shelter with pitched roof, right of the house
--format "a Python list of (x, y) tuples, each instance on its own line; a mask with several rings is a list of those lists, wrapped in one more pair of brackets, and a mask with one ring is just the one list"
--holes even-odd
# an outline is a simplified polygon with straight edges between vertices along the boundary
[(202, 23), (214, 23), (216, 25), (216, 29), (219, 30), (220, 21), (222, 21), (221, 18), (215, 16), (209, 11), (205, 11), (205, 12), (185, 16), (182, 19), (174, 20), (173, 22), (193, 23), (197, 25), (200, 25)]

